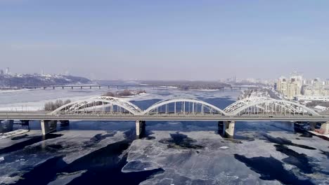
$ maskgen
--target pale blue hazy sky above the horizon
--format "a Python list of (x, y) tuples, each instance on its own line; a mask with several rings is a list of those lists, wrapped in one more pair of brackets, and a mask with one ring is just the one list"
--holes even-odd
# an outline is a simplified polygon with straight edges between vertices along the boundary
[(103, 79), (329, 78), (329, 1), (0, 0), (0, 68)]

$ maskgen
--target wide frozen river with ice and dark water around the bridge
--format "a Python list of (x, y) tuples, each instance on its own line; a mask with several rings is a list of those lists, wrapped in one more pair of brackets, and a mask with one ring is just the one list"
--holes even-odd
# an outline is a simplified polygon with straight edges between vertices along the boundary
[[(107, 90), (0, 93), (0, 110), (41, 110), (49, 100), (79, 100)], [(193, 97), (224, 109), (239, 92), (147, 90), (128, 98), (146, 109)], [(75, 121), (46, 137), (40, 125), (0, 139), (0, 184), (329, 184), (329, 142), (296, 133), (292, 123), (237, 122), (234, 139), (215, 122)]]

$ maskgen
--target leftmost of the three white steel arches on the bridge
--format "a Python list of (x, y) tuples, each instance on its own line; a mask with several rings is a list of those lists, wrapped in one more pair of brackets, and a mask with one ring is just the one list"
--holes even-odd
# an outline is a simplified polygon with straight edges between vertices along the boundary
[(52, 111), (51, 114), (56, 115), (59, 114), (60, 112), (64, 112), (64, 113), (72, 113), (75, 111), (79, 112), (82, 109), (86, 109), (86, 107), (88, 109), (91, 109), (96, 107), (113, 107), (113, 106), (120, 107), (120, 109), (125, 109), (129, 111), (129, 113), (134, 115), (141, 114), (142, 112), (141, 109), (139, 109), (135, 104), (132, 104), (131, 102), (128, 102), (126, 100), (117, 97), (102, 96), (102, 97), (92, 97), (87, 100), (78, 100), (75, 102), (70, 102)]

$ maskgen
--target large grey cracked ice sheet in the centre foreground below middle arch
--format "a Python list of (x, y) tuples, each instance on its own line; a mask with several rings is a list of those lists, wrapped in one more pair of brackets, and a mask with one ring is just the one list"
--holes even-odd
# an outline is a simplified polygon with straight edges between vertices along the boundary
[[(204, 146), (204, 149), (170, 149), (167, 144), (160, 143), (160, 139), (169, 138), (169, 131), (155, 131), (153, 140), (135, 140), (130, 148), (127, 161), (134, 163), (138, 161), (143, 170), (152, 170), (162, 167), (164, 173), (156, 174), (153, 179), (143, 181), (142, 184), (158, 184), (163, 179), (171, 181), (172, 184), (280, 184), (278, 181), (262, 181), (259, 174), (253, 172), (243, 163), (240, 163), (233, 156), (234, 153), (249, 153), (249, 156), (259, 156), (259, 152), (264, 156), (270, 156), (274, 147), (271, 144), (259, 144), (259, 142), (245, 142), (246, 146), (241, 149), (240, 144), (236, 144), (221, 138), (210, 131), (199, 132), (179, 132), (187, 135)], [(221, 146), (228, 146), (228, 149), (220, 149)], [(250, 151), (245, 151), (245, 149)], [(253, 149), (252, 149), (253, 148)], [(251, 153), (251, 154), (250, 154)], [(284, 156), (281, 155), (280, 158)], [(136, 166), (129, 163), (122, 169), (122, 172), (138, 171)], [(140, 165), (145, 163), (145, 165)], [(147, 169), (144, 167), (147, 166)], [(129, 169), (132, 168), (132, 169)], [(169, 180), (172, 179), (172, 180)], [(183, 182), (183, 183), (182, 183)]]

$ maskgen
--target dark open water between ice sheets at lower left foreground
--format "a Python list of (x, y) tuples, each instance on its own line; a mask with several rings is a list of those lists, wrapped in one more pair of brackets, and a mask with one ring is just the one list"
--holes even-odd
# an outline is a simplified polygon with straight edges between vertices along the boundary
[[(149, 170), (143, 172), (121, 172), (127, 164), (127, 156), (120, 158), (123, 151), (130, 146), (129, 140), (109, 144), (93, 151), (74, 162), (67, 164), (63, 156), (56, 156), (44, 163), (31, 167), (16, 184), (48, 184), (56, 179), (56, 174), (65, 174), (86, 170), (80, 177), (70, 181), (69, 184), (139, 184), (151, 175), (163, 170)], [(57, 149), (60, 146), (49, 146)]]

